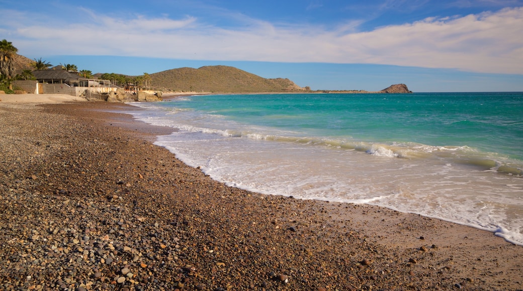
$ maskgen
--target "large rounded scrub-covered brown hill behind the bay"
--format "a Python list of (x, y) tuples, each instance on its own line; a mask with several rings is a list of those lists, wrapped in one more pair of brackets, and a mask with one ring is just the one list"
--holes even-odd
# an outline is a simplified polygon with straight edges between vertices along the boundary
[(289, 79), (266, 79), (229, 66), (178, 68), (151, 74), (159, 90), (228, 93), (299, 92), (305, 89)]

